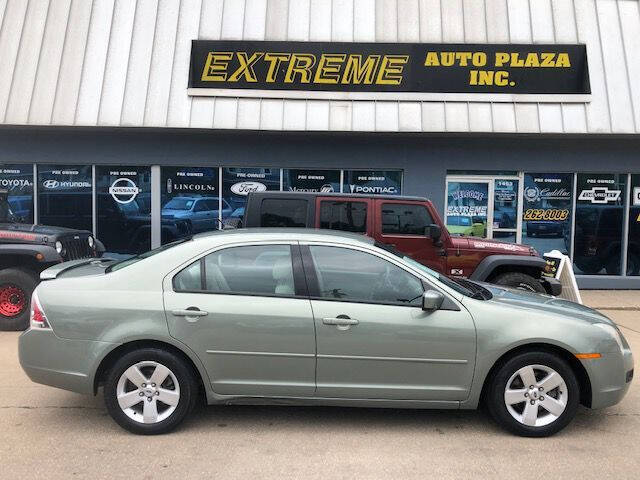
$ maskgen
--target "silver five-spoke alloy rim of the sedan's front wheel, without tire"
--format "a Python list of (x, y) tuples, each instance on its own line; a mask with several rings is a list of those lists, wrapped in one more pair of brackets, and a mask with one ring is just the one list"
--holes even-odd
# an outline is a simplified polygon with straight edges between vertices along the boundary
[(562, 376), (545, 365), (527, 365), (507, 382), (504, 402), (519, 423), (543, 427), (555, 422), (567, 407), (567, 385)]

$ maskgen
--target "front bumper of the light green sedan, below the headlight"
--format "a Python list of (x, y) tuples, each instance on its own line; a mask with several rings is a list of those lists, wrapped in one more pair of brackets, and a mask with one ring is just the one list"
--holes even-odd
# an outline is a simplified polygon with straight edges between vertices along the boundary
[(619, 403), (631, 385), (631, 350), (603, 353), (601, 358), (581, 362), (591, 380), (591, 408), (610, 407)]

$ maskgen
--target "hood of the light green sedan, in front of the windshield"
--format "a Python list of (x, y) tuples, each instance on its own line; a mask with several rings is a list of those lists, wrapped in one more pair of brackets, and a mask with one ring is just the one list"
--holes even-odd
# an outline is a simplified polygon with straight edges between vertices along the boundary
[[(487, 300), (496, 304), (515, 307), (535, 314), (547, 313), (551, 316), (562, 315), (574, 319), (581, 319), (589, 323), (609, 323), (613, 322), (597, 310), (589, 308), (579, 303), (564, 300), (551, 295), (526, 292), (514, 288), (498, 287), (493, 284), (475, 282), (489, 290), (493, 298)], [(523, 312), (523, 314), (526, 314)]]

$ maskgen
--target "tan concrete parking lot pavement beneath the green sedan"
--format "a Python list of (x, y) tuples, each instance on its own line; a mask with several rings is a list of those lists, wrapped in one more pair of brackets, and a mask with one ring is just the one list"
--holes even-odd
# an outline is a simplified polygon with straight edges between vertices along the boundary
[[(640, 358), (640, 312), (606, 312)], [(102, 396), (33, 384), (17, 333), (0, 333), (0, 478), (638, 478), (640, 387), (547, 439), (483, 412), (201, 407), (173, 434), (139, 437)]]

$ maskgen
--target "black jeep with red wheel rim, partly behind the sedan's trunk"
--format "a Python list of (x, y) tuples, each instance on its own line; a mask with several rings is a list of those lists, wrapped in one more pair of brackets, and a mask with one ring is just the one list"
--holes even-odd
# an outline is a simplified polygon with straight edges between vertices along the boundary
[(91, 232), (19, 223), (23, 220), (11, 211), (7, 191), (0, 190), (0, 330), (27, 328), (31, 293), (42, 270), (104, 253)]

